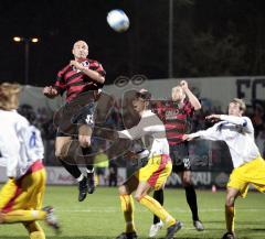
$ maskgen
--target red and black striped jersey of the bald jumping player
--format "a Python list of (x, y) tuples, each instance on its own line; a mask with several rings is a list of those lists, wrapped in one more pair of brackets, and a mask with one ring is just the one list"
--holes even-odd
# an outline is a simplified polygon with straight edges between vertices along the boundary
[[(102, 76), (106, 75), (102, 64), (97, 61), (85, 59), (81, 62), (81, 64), (92, 70), (98, 72)], [(57, 78), (54, 84), (54, 87), (59, 90), (60, 95), (63, 95), (66, 91), (67, 102), (73, 100), (81, 93), (98, 90), (99, 88), (103, 88), (103, 86), (104, 84), (95, 82), (71, 65), (65, 66), (57, 73)]]

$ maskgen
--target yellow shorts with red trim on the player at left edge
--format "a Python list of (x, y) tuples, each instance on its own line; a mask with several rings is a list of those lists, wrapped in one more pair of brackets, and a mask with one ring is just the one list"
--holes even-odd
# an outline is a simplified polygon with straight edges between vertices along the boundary
[(0, 191), (0, 210), (41, 209), (45, 191), (46, 172), (36, 161), (20, 180), (9, 180)]

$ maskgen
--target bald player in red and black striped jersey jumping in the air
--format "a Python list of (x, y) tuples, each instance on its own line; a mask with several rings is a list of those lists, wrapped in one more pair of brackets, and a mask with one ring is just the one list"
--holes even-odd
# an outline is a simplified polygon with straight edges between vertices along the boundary
[[(100, 88), (105, 82), (105, 70), (94, 59), (87, 58), (88, 45), (84, 41), (77, 41), (72, 50), (74, 59), (70, 62), (57, 74), (53, 86), (43, 89), (49, 98), (63, 95), (66, 91), (66, 104), (56, 115), (57, 134), (55, 140), (55, 155), (67, 172), (78, 182), (78, 200), (85, 199), (87, 192), (92, 194), (95, 189), (94, 167), (86, 165), (87, 177), (80, 171), (74, 159), (80, 154), (80, 148), (72, 155), (70, 145), (77, 135), (81, 154), (91, 153), (91, 139), (94, 127), (95, 101), (98, 99)], [(72, 157), (71, 163), (66, 157)]]

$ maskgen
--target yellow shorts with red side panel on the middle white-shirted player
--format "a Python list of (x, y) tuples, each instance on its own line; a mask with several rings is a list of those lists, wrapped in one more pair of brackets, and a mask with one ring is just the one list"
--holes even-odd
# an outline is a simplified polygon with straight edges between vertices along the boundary
[(148, 160), (146, 166), (135, 173), (139, 182), (147, 182), (153, 189), (160, 189), (172, 171), (169, 155), (156, 155)]

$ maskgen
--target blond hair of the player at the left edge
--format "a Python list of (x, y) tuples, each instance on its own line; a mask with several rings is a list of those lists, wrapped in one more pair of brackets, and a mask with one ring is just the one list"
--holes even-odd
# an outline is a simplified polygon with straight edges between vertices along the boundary
[(2, 83), (0, 85), (0, 109), (18, 109), (20, 91), (21, 87), (19, 84)]

